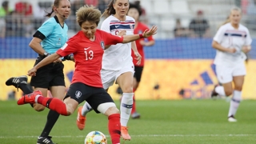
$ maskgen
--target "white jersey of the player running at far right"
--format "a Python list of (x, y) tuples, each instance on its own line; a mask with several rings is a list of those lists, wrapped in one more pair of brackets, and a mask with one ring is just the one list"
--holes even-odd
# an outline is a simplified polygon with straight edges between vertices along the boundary
[(246, 26), (239, 24), (238, 30), (236, 30), (230, 23), (226, 23), (219, 28), (217, 34), (214, 36), (214, 41), (226, 48), (236, 49), (234, 54), (217, 50), (214, 64), (234, 66), (238, 62), (244, 62), (246, 60), (246, 54), (242, 52), (242, 46), (250, 46), (252, 39)]

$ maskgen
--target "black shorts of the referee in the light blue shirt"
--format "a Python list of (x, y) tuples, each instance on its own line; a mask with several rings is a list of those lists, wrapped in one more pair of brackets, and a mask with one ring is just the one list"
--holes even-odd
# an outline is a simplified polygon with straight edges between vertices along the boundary
[[(38, 56), (34, 66), (42, 61), (43, 57)], [(65, 86), (64, 65), (62, 62), (50, 63), (37, 70), (36, 76), (31, 78), (30, 85), (35, 88), (49, 89), (51, 86)]]

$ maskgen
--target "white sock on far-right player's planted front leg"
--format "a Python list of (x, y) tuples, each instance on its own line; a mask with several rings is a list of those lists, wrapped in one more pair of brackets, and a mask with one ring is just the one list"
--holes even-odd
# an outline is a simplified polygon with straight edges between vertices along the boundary
[(230, 110), (229, 110), (228, 117), (230, 117), (231, 115), (233, 116), (235, 115), (241, 100), (242, 100), (242, 92), (238, 90), (234, 90), (233, 98), (230, 101)]

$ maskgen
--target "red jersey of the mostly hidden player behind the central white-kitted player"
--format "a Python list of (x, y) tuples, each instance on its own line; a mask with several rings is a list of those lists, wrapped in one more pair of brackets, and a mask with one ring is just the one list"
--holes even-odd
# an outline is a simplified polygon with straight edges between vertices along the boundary
[[(142, 22), (138, 22), (138, 25), (134, 29), (134, 34), (142, 34), (145, 30), (150, 30), (145, 24)], [(133, 57), (133, 62), (134, 66), (144, 66), (144, 61), (145, 61), (145, 56), (144, 56), (144, 51), (143, 51), (143, 46), (139, 43), (140, 41), (144, 40), (144, 38), (136, 40), (136, 46), (138, 49), (138, 53), (142, 55), (142, 62), (141, 64), (137, 65), (136, 63), (138, 62), (135, 58), (134, 52), (131, 53), (131, 56)], [(146, 39), (145, 39), (146, 40)], [(147, 38), (148, 41), (154, 40), (152, 36)]]

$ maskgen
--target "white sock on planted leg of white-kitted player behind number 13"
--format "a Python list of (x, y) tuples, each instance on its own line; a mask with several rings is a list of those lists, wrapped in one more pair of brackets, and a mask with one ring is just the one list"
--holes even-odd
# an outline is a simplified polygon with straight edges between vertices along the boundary
[(127, 126), (128, 120), (130, 118), (131, 109), (133, 107), (133, 96), (134, 93), (123, 93), (120, 105), (120, 122), (121, 126)]

